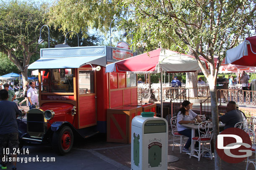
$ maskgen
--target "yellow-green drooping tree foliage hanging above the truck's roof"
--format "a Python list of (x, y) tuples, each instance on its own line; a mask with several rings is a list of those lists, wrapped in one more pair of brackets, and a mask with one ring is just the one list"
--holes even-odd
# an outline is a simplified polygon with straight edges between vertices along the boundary
[(86, 38), (89, 28), (99, 29), (106, 35), (114, 16), (118, 18), (125, 13), (115, 0), (58, 0), (50, 8), (48, 23), (63, 32), (81, 31)]

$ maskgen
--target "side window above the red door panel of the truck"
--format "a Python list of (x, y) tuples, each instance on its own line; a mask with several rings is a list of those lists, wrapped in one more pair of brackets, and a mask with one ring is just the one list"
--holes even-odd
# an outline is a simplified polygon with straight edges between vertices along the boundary
[(79, 70), (79, 94), (94, 93), (94, 72)]

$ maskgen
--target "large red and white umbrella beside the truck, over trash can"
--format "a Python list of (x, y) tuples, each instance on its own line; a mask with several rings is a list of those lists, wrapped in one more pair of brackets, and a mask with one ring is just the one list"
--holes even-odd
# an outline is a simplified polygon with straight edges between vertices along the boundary
[(193, 56), (158, 48), (148, 53), (106, 65), (106, 72), (131, 71), (136, 74), (168, 72), (192, 72), (200, 70)]

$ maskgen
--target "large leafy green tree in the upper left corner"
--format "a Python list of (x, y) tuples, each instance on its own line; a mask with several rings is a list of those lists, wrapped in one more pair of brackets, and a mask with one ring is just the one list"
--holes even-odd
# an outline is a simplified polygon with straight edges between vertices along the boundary
[(37, 39), (46, 7), (16, 0), (0, 3), (0, 51), (21, 71), (23, 82), (31, 57), (38, 58)]

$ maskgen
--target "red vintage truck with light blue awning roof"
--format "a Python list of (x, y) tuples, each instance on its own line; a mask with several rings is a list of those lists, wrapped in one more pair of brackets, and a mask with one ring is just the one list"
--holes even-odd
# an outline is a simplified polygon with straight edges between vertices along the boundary
[[(29, 69), (39, 69), (39, 108), (29, 110), (27, 120), (18, 120), (21, 145), (47, 143), (63, 155), (79, 137), (107, 133), (108, 129), (109, 139), (118, 138), (118, 130), (111, 130), (115, 122), (107, 125), (107, 110), (123, 106), (126, 111), (135, 110), (128, 115), (128, 124), (141, 113), (136, 74), (106, 73), (105, 66), (132, 56), (125, 42), (117, 47), (41, 49), (40, 59), (29, 65)], [(123, 118), (116, 119), (122, 122)], [(125, 128), (129, 126), (123, 127), (128, 137)]]

